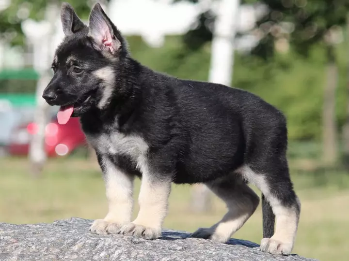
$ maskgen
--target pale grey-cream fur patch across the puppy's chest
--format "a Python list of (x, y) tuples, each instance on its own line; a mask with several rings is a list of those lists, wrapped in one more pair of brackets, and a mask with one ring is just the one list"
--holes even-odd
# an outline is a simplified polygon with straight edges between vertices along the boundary
[(143, 138), (136, 135), (125, 135), (118, 131), (86, 135), (89, 143), (102, 154), (127, 155), (138, 161), (148, 150)]

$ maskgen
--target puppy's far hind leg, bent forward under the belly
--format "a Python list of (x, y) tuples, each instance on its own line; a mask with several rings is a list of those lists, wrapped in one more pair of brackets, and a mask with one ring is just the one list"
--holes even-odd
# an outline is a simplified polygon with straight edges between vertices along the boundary
[(259, 198), (237, 174), (230, 174), (206, 185), (226, 203), (228, 212), (221, 221), (210, 228), (198, 229), (192, 237), (225, 243), (251, 217), (259, 204)]

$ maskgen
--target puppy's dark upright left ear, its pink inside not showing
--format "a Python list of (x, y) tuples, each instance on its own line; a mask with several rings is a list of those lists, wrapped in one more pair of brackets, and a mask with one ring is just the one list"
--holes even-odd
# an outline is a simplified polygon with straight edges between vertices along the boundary
[(73, 7), (68, 3), (62, 3), (61, 20), (65, 35), (72, 35), (85, 27), (79, 16), (75, 14)]

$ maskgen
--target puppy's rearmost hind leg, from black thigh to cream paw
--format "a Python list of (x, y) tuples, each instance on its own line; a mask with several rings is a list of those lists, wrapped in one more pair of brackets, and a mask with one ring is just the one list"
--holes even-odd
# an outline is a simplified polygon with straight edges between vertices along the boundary
[(244, 128), (244, 165), (237, 172), (263, 194), (263, 235), (266, 238), (262, 239), (260, 248), (271, 254), (290, 254), (301, 203), (289, 175), (286, 118), (269, 108), (262, 110), (260, 117), (251, 117)]

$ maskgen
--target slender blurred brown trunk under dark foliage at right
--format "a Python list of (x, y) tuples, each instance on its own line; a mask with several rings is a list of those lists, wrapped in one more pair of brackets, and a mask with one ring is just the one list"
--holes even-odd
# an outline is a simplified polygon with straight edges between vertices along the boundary
[(338, 157), (337, 124), (335, 115), (335, 94), (338, 84), (338, 68), (334, 46), (327, 46), (327, 83), (324, 90), (323, 104), (323, 161), (334, 165)]

